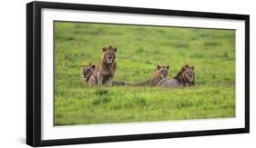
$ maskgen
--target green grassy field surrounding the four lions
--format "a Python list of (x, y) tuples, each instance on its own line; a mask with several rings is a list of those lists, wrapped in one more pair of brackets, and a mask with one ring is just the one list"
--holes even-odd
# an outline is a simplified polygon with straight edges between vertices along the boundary
[[(157, 64), (169, 77), (193, 64), (186, 88), (83, 86), (80, 64), (118, 48), (117, 81), (138, 83)], [(55, 124), (129, 123), (235, 116), (235, 32), (141, 25), (55, 23)]]

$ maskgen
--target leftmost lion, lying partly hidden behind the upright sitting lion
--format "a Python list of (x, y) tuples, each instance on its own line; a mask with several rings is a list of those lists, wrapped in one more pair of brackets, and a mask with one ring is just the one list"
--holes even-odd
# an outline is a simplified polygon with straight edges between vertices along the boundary
[[(91, 63), (90, 64), (83, 64), (82, 65), (81, 73), (82, 73), (83, 79), (85, 80), (85, 86), (87, 86), (87, 82), (88, 82), (89, 78), (94, 73), (95, 67), (96, 67), (96, 65), (95, 64), (91, 64)], [(130, 83), (128, 83), (126, 81), (113, 81), (113, 85), (116, 85), (116, 86), (120, 86), (120, 85), (128, 86), (128, 85), (130, 85)]]

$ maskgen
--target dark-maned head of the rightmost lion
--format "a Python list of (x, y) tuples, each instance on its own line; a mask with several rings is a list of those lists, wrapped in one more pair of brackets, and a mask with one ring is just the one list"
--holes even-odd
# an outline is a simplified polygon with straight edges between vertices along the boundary
[(182, 66), (179, 74), (177, 77), (181, 77), (183, 82), (187, 84), (194, 84), (195, 81), (195, 73), (194, 73), (195, 67), (193, 65), (189, 66), (189, 64), (185, 64)]

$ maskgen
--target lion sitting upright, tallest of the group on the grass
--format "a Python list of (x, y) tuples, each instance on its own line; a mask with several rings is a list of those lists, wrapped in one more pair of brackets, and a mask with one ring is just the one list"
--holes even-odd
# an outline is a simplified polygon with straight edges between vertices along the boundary
[(103, 47), (102, 51), (101, 61), (97, 64), (94, 73), (88, 80), (87, 84), (89, 86), (113, 85), (114, 75), (117, 70), (117, 48), (109, 45), (108, 47)]

